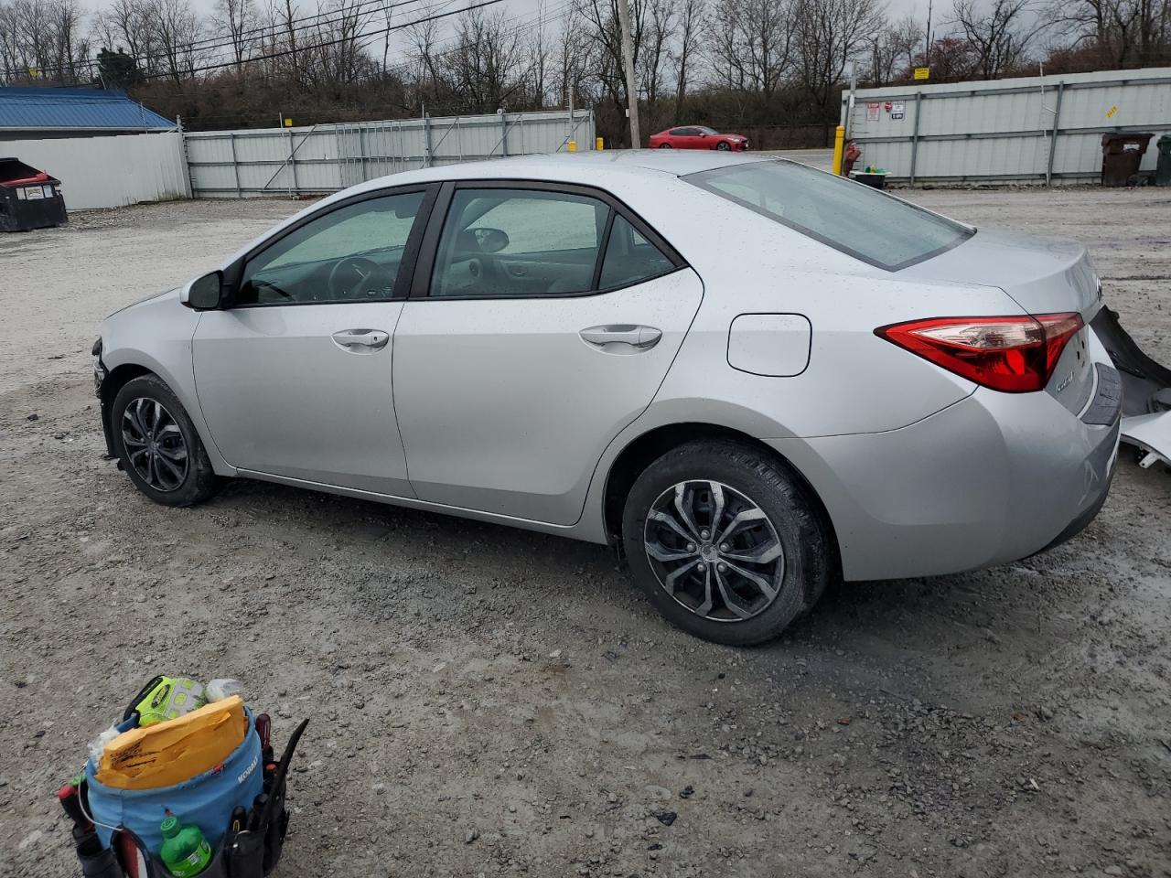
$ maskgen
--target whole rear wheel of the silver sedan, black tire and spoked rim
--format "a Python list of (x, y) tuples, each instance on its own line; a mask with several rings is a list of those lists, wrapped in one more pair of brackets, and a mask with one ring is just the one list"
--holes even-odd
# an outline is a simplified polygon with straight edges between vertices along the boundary
[(622, 535), (656, 609), (732, 646), (778, 637), (834, 569), (808, 488), (782, 461), (737, 443), (689, 443), (651, 464), (626, 499)]

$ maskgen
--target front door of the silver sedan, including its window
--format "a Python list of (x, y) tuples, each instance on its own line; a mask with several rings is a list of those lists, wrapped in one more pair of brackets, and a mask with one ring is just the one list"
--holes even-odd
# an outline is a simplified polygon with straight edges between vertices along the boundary
[(201, 314), (192, 339), (199, 405), (225, 460), (412, 495), (391, 364), (433, 192), (340, 203), (230, 269), (228, 307)]

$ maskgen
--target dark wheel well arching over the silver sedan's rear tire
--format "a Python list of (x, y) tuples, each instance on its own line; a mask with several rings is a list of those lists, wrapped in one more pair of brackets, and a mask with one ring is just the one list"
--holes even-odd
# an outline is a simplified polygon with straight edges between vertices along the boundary
[(715, 424), (670, 424), (643, 433), (630, 445), (622, 450), (617, 459), (610, 466), (610, 473), (605, 480), (605, 503), (603, 514), (605, 516), (605, 533), (610, 544), (622, 551), (622, 513), (626, 505), (626, 496), (630, 488), (642, 472), (672, 448), (697, 439), (723, 439), (741, 445), (751, 445), (767, 457), (780, 462), (786, 469), (800, 480), (813, 501), (817, 515), (821, 517), (826, 533), (829, 535), (829, 544), (834, 547), (833, 565), (841, 572), (841, 554), (838, 551), (837, 534), (834, 530), (834, 522), (829, 517), (829, 512), (822, 503), (813, 485), (806, 479), (796, 467), (775, 448), (771, 448), (765, 443), (741, 433), (739, 430), (721, 427)]

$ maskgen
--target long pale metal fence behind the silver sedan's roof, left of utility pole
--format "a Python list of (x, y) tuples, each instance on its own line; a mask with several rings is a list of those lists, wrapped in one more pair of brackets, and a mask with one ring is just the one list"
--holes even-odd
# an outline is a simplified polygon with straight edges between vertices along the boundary
[(432, 165), (594, 149), (593, 110), (500, 112), (185, 135), (196, 198), (336, 192)]

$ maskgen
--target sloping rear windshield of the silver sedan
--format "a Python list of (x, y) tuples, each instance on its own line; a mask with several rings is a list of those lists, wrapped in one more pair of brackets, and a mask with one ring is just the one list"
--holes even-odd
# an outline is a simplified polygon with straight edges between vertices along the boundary
[(795, 162), (730, 165), (684, 179), (889, 272), (974, 234), (946, 217)]

